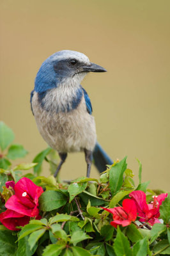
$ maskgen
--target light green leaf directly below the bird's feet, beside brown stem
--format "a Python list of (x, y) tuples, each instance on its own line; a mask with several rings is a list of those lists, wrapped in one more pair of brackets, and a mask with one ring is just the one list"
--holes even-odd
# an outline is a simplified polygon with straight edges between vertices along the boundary
[(73, 182), (72, 184), (70, 184), (70, 186), (68, 186), (68, 193), (70, 194), (69, 203), (72, 202), (72, 200), (73, 200), (73, 198), (75, 198), (75, 196), (82, 193), (82, 191), (84, 191), (84, 189), (86, 189), (87, 185), (88, 185), (87, 182), (84, 182), (84, 183)]

